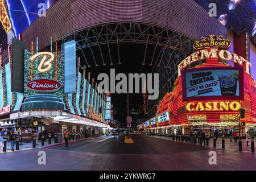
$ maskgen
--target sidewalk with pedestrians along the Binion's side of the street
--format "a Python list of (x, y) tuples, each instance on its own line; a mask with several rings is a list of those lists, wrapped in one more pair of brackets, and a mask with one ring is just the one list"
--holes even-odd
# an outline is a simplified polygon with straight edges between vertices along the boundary
[[(77, 140), (72, 140), (71, 139), (71, 141), (69, 141), (69, 143), (82, 142), (84, 140), (90, 140), (90, 139), (94, 139), (94, 138), (98, 138), (98, 137), (81, 138), (80, 140), (79, 139), (77, 139)], [(49, 148), (49, 147), (60, 146), (60, 145), (65, 144), (64, 139), (62, 140), (61, 143), (54, 143), (54, 141), (55, 141), (54, 138), (52, 138), (51, 139), (51, 144), (48, 144), (48, 139), (47, 139), (46, 142), (44, 142), (44, 146), (42, 146), (42, 141), (39, 140), (38, 141), (38, 146), (36, 146), (36, 148)], [(35, 148), (32, 148), (32, 142), (30, 142), (30, 143), (23, 142), (22, 144), (23, 145), (19, 145), (19, 151), (35, 149)], [(16, 144), (14, 146), (14, 150), (15, 149), (16, 149)], [(15, 151), (11, 150), (11, 142), (7, 142), (6, 152), (17, 152), (16, 150)], [(0, 152), (0, 154), (1, 153), (5, 153), (5, 152)]]

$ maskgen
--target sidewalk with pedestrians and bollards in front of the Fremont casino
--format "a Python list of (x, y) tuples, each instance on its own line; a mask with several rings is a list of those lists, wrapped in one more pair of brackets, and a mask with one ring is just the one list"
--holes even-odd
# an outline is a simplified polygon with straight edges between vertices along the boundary
[[(165, 139), (165, 140), (171, 140), (173, 142), (181, 142), (181, 143), (187, 143), (187, 144), (193, 144), (193, 145), (197, 145), (197, 146), (200, 146), (199, 142), (198, 142), (198, 139), (197, 139), (197, 143), (190, 143), (189, 141), (188, 142), (185, 142), (185, 139), (184, 139), (184, 142), (180, 141), (179, 140), (172, 140), (172, 137), (165, 137), (165, 136), (156, 136), (156, 135), (147, 135), (147, 137), (154, 137), (154, 138), (159, 138), (159, 139)], [(206, 141), (205, 141), (205, 144), (206, 144)], [(204, 144), (203, 144), (204, 146)], [(216, 141), (216, 147), (213, 147), (213, 139), (210, 138), (209, 140), (209, 146), (206, 146), (208, 148), (211, 148), (211, 149), (217, 149), (217, 150), (222, 150), (222, 139), (221, 137), (218, 137), (217, 141)], [(255, 146), (254, 146), (255, 148)], [(238, 140), (237, 140), (237, 143), (234, 143), (234, 139), (232, 139), (232, 142), (230, 142), (229, 138), (225, 138), (225, 149), (224, 150), (232, 150), (232, 151), (239, 151), (239, 148), (238, 148)], [(243, 153), (251, 153), (251, 143), (249, 142), (249, 146), (246, 146), (246, 139), (242, 139), (242, 151)]]

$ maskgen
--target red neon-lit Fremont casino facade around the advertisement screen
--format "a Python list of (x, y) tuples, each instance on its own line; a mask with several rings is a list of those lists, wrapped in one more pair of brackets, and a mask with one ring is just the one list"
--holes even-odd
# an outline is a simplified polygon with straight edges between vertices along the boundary
[[(156, 123), (154, 125), (151, 125), (151, 123), (148, 125), (147, 123), (147, 126), (144, 126), (144, 123), (138, 126), (139, 129), (148, 129), (150, 133), (159, 133), (164, 129), (164, 134), (172, 133), (174, 129), (180, 130), (183, 134), (189, 134), (195, 128), (209, 130), (218, 127), (237, 130), (240, 108), (246, 111), (245, 118), (240, 119), (241, 134), (245, 135), (247, 129), (254, 129), (256, 125), (256, 87), (255, 81), (249, 72), (250, 63), (243, 57), (236, 55), (236, 53), (230, 53), (218, 47), (207, 47), (203, 52), (197, 52), (193, 53), (191, 58), (181, 61), (179, 65), (180, 74), (175, 81), (174, 89), (172, 92), (166, 93), (159, 104), (155, 117)], [(223, 52), (225, 52), (225, 55), (222, 54)], [(203, 62), (192, 67), (192, 63), (196, 63), (196, 61)], [(228, 64), (228, 61), (233, 61), (234, 66)], [(239, 76), (240, 97), (205, 96), (186, 98), (186, 90), (183, 90), (183, 88), (187, 88), (184, 87), (184, 82), (186, 82), (184, 73), (208, 69), (220, 69), (221, 71), (240, 69), (240, 73), (242, 73)], [(160, 122), (159, 115), (163, 113), (168, 113), (168, 120)], [(148, 121), (151, 122), (151, 119)]]

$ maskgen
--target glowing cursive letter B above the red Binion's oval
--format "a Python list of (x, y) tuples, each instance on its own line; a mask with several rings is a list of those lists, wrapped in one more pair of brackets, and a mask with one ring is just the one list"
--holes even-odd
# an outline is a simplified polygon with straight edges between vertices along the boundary
[[(34, 62), (34, 60), (37, 57), (43, 56), (42, 61), (38, 65), (38, 72), (39, 73), (46, 73), (52, 68), (52, 61), (55, 59), (55, 56), (51, 52), (39, 52), (35, 54), (34, 56), (30, 57), (31, 63)], [(47, 57), (50, 57), (49, 60), (47, 61)]]

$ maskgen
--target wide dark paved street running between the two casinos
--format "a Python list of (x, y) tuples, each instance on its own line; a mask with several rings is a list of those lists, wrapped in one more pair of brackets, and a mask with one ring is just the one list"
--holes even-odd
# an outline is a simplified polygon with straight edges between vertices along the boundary
[[(154, 137), (98, 137), (70, 144), (0, 154), (1, 170), (256, 170), (255, 154), (216, 150), (217, 165), (210, 165), (212, 149)], [(38, 152), (46, 152), (46, 165)]]

